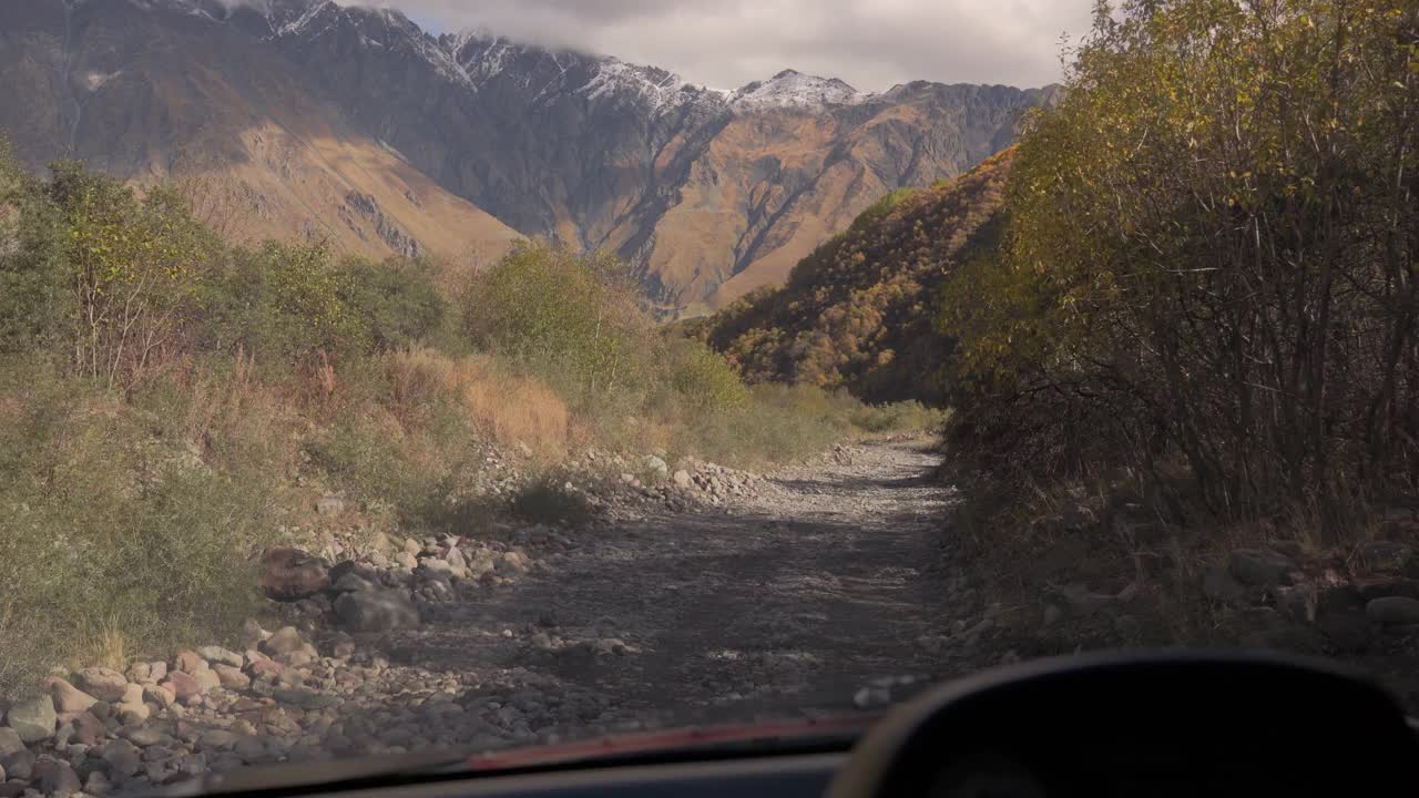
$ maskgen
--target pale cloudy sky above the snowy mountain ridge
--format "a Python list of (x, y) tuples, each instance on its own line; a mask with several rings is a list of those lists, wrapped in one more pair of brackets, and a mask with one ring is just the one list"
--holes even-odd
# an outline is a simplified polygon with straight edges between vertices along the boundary
[[(360, 0), (349, 0), (356, 3)], [(370, 0), (363, 0), (370, 3)], [(362, 3), (362, 4), (363, 4)], [(482, 26), (735, 88), (779, 70), (880, 91), (910, 80), (1036, 87), (1091, 0), (387, 0), (426, 27)]]

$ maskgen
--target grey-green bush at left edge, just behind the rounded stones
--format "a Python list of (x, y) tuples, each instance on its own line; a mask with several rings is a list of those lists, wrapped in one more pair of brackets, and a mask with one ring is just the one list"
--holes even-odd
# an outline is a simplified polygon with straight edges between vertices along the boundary
[(6, 359), (0, 379), (0, 693), (236, 632), (258, 599), (247, 555), (277, 527), (270, 464), (214, 469), (43, 362)]

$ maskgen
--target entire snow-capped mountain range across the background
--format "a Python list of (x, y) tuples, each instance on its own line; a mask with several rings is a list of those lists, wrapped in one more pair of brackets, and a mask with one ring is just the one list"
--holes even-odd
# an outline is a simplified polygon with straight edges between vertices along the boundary
[(360, 251), (610, 248), (667, 311), (780, 283), (876, 197), (1006, 146), (1053, 94), (864, 94), (792, 70), (710, 89), (329, 0), (11, 0), (0, 70), (0, 131), (33, 165), (199, 176), (250, 234)]

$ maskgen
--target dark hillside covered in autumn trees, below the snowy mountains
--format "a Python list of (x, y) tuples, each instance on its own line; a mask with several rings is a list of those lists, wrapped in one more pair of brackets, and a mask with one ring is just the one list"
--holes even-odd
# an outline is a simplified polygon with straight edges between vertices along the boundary
[(846, 388), (870, 402), (944, 399), (949, 344), (937, 332), (941, 288), (989, 253), (1005, 224), (1013, 151), (954, 180), (901, 189), (761, 288), (687, 332), (755, 382)]

